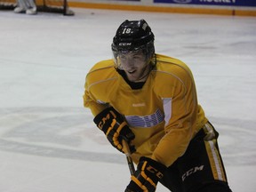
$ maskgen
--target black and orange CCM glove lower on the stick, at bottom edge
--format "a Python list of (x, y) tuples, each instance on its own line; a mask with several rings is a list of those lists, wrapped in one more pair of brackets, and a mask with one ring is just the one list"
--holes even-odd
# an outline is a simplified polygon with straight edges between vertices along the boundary
[(124, 192), (155, 192), (158, 180), (160, 180), (166, 166), (155, 160), (142, 156), (132, 180)]

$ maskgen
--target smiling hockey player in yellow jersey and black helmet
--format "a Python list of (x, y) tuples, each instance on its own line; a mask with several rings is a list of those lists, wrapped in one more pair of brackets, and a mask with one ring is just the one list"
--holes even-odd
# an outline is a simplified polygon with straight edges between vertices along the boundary
[(112, 146), (126, 140), (137, 170), (125, 192), (230, 192), (217, 138), (198, 104), (188, 66), (155, 53), (145, 20), (125, 20), (86, 76), (84, 107)]

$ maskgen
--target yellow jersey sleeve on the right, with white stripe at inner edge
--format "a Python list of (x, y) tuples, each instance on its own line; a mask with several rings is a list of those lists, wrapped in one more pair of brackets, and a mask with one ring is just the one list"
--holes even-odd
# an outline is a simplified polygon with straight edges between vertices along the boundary
[[(181, 73), (180, 73), (181, 71)], [(164, 98), (164, 137), (159, 141), (153, 155), (156, 161), (170, 166), (188, 148), (196, 124), (197, 99), (193, 76), (188, 68), (182, 68), (167, 84)], [(174, 82), (174, 83), (173, 83)]]

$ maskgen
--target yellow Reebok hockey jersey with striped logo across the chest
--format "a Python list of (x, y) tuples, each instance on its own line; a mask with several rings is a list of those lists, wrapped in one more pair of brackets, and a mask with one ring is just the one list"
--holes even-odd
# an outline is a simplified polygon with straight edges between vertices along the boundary
[(160, 54), (147, 81), (136, 90), (116, 71), (114, 60), (92, 67), (85, 80), (84, 107), (96, 116), (109, 106), (125, 117), (135, 134), (136, 164), (140, 156), (148, 156), (170, 166), (207, 122), (188, 66)]

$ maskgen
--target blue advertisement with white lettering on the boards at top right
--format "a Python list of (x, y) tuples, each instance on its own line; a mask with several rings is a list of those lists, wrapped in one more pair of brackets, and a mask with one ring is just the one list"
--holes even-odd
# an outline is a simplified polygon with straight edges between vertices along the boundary
[(256, 6), (256, 0), (154, 0), (154, 3)]

